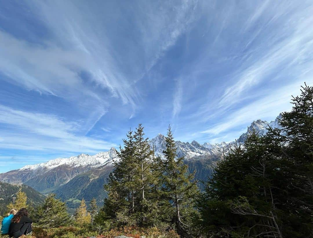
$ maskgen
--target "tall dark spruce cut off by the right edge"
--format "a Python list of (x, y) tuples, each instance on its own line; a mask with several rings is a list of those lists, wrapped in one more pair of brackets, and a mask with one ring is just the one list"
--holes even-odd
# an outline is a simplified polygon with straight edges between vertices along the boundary
[(301, 94), (292, 97), (290, 112), (284, 112), (279, 121), (282, 129), (272, 131), (279, 138), (281, 158), (287, 185), (280, 193), (280, 203), (285, 213), (285, 235), (293, 237), (313, 236), (313, 87), (305, 84)]

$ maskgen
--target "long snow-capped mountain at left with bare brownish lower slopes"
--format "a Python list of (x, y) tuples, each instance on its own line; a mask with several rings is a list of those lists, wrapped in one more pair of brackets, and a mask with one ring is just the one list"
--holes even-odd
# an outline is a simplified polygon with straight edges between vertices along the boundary
[(109, 167), (117, 158), (117, 151), (109, 151), (95, 155), (80, 154), (70, 158), (58, 158), (46, 163), (26, 165), (21, 169), (0, 174), (0, 181), (9, 183), (24, 183), (39, 192), (51, 192), (66, 184), (76, 175), (98, 167)]

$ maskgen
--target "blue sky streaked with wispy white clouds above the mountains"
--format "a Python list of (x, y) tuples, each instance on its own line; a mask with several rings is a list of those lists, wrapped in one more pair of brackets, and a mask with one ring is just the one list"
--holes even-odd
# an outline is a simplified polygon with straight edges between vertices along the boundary
[(150, 138), (232, 141), (313, 84), (312, 1), (0, 1), (0, 172)]

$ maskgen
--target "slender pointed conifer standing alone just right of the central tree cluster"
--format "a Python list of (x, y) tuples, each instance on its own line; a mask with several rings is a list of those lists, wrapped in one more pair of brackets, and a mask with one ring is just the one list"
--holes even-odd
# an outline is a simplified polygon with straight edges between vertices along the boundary
[(191, 225), (189, 218), (194, 212), (194, 198), (198, 193), (198, 188), (194, 174), (188, 175), (188, 166), (183, 164), (183, 158), (177, 158), (171, 127), (167, 130), (166, 150), (163, 154), (165, 156), (163, 194), (175, 208), (174, 219), (177, 233), (184, 237)]

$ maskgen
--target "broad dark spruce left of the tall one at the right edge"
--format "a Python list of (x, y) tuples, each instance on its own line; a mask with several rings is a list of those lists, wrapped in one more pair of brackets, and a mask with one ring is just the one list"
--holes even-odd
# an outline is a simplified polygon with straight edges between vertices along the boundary
[(244, 146), (236, 145), (208, 179), (198, 200), (201, 226), (208, 236), (282, 238), (281, 211), (275, 207), (272, 157), (253, 130)]

